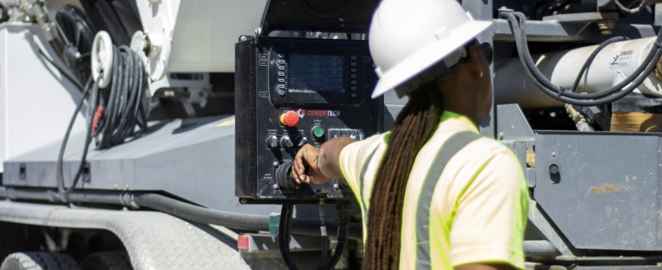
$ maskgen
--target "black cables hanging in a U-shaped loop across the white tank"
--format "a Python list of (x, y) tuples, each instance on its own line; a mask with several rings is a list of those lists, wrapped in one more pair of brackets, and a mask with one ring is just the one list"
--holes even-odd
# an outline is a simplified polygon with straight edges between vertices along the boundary
[[(662, 41), (662, 31), (660, 31), (654, 42), (655, 47), (653, 50), (649, 52), (649, 55), (644, 59), (643, 64), (640, 65), (632, 75), (628, 76), (628, 78), (618, 85), (601, 92), (590, 94), (574, 93), (566, 91), (563, 87), (553, 85), (535, 66), (527, 47), (526, 34), (523, 31), (526, 20), (524, 14), (502, 13), (501, 16), (508, 20), (511, 26), (518, 54), (520, 55), (520, 61), (524, 66), (525, 73), (527, 73), (533, 83), (545, 94), (567, 104), (577, 106), (599, 106), (612, 103), (613, 101), (625, 97), (627, 94), (635, 90), (636, 87), (649, 76), (662, 56), (661, 45), (659, 45)], [(516, 16), (519, 18), (519, 22)]]

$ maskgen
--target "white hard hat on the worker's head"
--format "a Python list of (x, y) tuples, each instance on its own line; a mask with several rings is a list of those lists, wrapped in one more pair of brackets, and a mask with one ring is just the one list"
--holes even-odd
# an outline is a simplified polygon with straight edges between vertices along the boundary
[(441, 75), (420, 73), (442, 59), (445, 68), (457, 64), (466, 56), (464, 44), (491, 24), (474, 20), (456, 0), (382, 1), (368, 36), (380, 77), (372, 97), (392, 89), (402, 97)]

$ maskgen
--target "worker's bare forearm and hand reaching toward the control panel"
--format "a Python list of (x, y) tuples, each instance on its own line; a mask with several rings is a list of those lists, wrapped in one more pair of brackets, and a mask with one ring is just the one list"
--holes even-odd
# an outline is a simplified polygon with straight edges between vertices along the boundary
[(343, 136), (323, 143), (319, 149), (310, 144), (303, 145), (294, 157), (292, 178), (296, 183), (315, 184), (343, 178), (343, 172), (340, 171), (340, 152), (353, 142), (354, 139)]

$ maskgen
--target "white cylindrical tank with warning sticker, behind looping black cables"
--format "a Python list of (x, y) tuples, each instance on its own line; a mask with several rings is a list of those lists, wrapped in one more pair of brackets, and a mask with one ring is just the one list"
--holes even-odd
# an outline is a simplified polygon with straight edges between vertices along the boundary
[[(653, 48), (655, 38), (638, 38), (612, 43), (603, 48), (581, 78), (577, 92), (600, 92), (621, 83), (639, 67)], [(573, 50), (534, 55), (538, 69), (554, 85), (570, 89), (581, 66), (598, 48), (592, 45)], [(527, 76), (519, 58), (495, 62), (496, 104), (519, 104), (522, 108), (545, 108), (563, 104), (540, 91)], [(656, 69), (657, 70), (657, 69)], [(654, 71), (655, 72), (655, 71)], [(662, 97), (662, 85), (648, 76), (635, 92)]]

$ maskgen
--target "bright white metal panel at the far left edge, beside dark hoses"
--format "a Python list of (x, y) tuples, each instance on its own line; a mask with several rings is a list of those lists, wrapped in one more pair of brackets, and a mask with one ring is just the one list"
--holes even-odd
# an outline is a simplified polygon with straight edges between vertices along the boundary
[[(47, 44), (39, 27), (0, 25), (0, 162), (61, 141), (81, 98), (81, 92), (27, 41), (25, 31)], [(54, 55), (48, 44), (45, 47)], [(74, 133), (83, 131), (84, 121), (79, 115)]]

